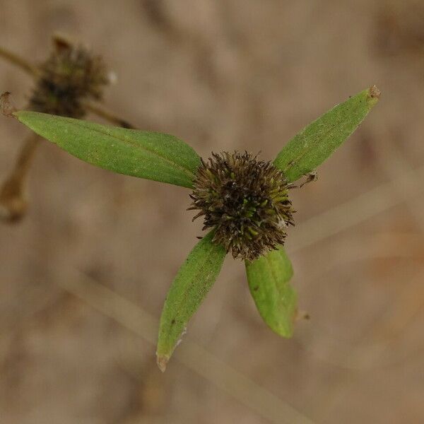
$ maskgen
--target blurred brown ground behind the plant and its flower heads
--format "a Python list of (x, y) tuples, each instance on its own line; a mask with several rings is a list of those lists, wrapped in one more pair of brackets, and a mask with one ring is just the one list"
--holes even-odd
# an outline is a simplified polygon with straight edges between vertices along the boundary
[[(228, 258), (165, 374), (158, 317), (201, 234), (189, 192), (43, 142), (28, 216), (0, 226), (0, 423), (422, 423), (423, 22), (412, 0), (0, 0), (2, 46), (37, 62), (52, 33), (83, 42), (117, 74), (108, 110), (204, 157), (271, 159), (336, 103), (382, 90), (292, 192), (310, 321), (278, 338)], [(32, 87), (0, 61), (16, 105)], [(1, 179), (28, 134), (0, 120)]]

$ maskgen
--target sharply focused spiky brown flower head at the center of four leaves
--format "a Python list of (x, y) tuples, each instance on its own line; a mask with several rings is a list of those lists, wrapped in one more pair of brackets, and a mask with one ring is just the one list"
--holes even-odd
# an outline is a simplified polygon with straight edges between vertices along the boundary
[(271, 162), (245, 153), (212, 153), (201, 160), (189, 209), (204, 216), (204, 230), (214, 228), (213, 241), (232, 257), (252, 261), (282, 245), (294, 225), (283, 172)]

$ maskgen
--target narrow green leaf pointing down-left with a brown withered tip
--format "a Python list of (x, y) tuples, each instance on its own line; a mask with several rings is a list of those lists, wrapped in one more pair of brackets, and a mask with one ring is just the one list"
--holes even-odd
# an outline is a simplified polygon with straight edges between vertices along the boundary
[(225, 258), (225, 249), (212, 242), (209, 232), (190, 252), (179, 269), (167, 293), (160, 317), (158, 366), (165, 371), (166, 364), (184, 333), (187, 322), (211, 290)]

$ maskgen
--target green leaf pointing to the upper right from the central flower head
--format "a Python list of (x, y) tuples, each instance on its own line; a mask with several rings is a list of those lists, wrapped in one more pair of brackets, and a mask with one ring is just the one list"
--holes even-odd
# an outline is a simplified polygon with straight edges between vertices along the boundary
[(274, 165), (289, 182), (313, 171), (355, 131), (378, 102), (379, 95), (378, 88), (372, 86), (333, 107), (291, 139), (278, 153)]

